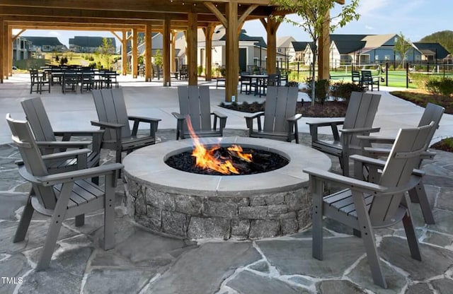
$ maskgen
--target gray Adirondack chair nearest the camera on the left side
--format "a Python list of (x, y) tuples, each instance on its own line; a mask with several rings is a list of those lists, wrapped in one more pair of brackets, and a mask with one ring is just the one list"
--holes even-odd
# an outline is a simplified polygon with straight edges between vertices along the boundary
[[(23, 160), (18, 164), (18, 171), (33, 187), (13, 242), (25, 239), (34, 211), (51, 216), (36, 270), (47, 269), (50, 265), (63, 220), (75, 217), (76, 226), (81, 226), (84, 225), (84, 213), (104, 209), (104, 249), (115, 247), (115, 184), (116, 173), (122, 165), (113, 163), (50, 175), (45, 165), (47, 159), (71, 158), (90, 151), (78, 149), (41, 155), (28, 122), (16, 121), (9, 114), (6, 115), (6, 120), (13, 134), (13, 143), (18, 147)], [(92, 177), (105, 177), (105, 188), (87, 180)]]

